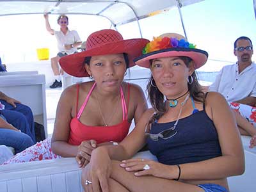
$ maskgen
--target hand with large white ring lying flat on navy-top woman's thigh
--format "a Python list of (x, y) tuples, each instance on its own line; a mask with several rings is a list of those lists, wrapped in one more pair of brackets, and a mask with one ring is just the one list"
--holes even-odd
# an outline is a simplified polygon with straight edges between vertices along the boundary
[(164, 179), (177, 179), (179, 168), (148, 159), (128, 159), (120, 164), (127, 172), (135, 172), (136, 176), (153, 175)]

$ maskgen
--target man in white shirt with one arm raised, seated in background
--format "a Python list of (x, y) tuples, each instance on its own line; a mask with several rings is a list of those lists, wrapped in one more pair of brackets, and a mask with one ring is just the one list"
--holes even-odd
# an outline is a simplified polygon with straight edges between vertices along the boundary
[(77, 52), (77, 47), (79, 47), (82, 42), (77, 31), (70, 31), (68, 29), (67, 15), (60, 15), (57, 19), (57, 22), (60, 25), (60, 31), (54, 31), (54, 29), (51, 28), (48, 19), (49, 16), (47, 14), (44, 15), (44, 18), (47, 31), (49, 31), (51, 35), (55, 35), (58, 42), (59, 52), (56, 57), (51, 58), (51, 67), (55, 76), (55, 81), (50, 86), (50, 88), (58, 88), (62, 86), (61, 76), (63, 75), (63, 70), (59, 67), (58, 61), (63, 56)]

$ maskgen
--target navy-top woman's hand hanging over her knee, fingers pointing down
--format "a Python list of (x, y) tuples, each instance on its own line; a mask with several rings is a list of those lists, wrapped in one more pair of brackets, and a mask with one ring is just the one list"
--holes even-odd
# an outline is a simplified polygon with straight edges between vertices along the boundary
[(82, 186), (86, 192), (109, 192), (111, 159), (104, 148), (93, 150), (90, 163), (82, 170)]

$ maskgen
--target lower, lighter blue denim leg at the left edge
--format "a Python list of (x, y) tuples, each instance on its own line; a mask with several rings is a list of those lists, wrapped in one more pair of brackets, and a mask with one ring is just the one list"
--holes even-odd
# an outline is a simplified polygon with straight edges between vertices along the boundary
[(12, 129), (0, 128), (0, 145), (15, 148), (15, 154), (22, 152), (34, 144), (33, 140), (23, 132), (13, 131)]

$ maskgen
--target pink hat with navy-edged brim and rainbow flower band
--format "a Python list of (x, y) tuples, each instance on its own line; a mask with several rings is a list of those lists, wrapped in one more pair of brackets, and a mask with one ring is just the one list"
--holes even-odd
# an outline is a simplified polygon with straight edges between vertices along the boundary
[(184, 36), (177, 33), (165, 33), (149, 42), (143, 49), (143, 55), (134, 60), (136, 65), (150, 68), (150, 60), (173, 56), (187, 56), (195, 61), (195, 69), (202, 67), (208, 53), (189, 44)]

